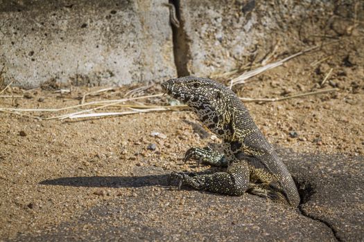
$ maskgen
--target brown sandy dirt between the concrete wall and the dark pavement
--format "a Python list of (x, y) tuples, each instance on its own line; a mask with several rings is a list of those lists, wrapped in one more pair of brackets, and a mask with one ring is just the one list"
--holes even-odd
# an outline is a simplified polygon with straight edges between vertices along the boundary
[[(298, 153), (363, 156), (363, 50), (363, 34), (354, 32), (253, 77), (242, 86), (234, 86), (233, 90), (241, 97), (257, 98), (337, 88), (338, 91), (331, 93), (280, 102), (247, 102), (246, 106), (268, 140), (277, 147)], [(331, 68), (327, 82), (321, 85)], [(86, 102), (119, 99), (136, 86), (87, 96)], [(69, 86), (51, 86), (48, 90), (13, 87), (2, 95), (24, 97), (0, 97), (0, 106), (62, 108), (79, 104), (85, 93), (103, 89), (71, 86), (71, 93), (54, 93), (60, 88)], [(160, 93), (157, 82), (136, 95), (153, 93)], [(166, 105), (168, 100), (164, 96), (137, 103)], [(107, 109), (111, 110), (121, 108)], [(42, 117), (66, 112), (43, 112)], [(165, 174), (173, 170), (202, 171), (207, 167), (182, 162), (184, 152), (191, 146), (219, 142), (188, 110), (76, 120), (39, 120), (2, 112), (0, 120), (0, 240), (13, 239), (19, 234), (34, 236), (72, 221), (105, 201), (112, 203), (119, 198), (140, 196), (135, 187), (110, 187), (102, 183), (46, 185), (47, 180), (139, 176), (135, 167), (146, 167), (152, 174), (153, 167)], [(159, 136), (151, 135), (153, 132), (158, 132)], [(155, 184), (148, 189), (154, 193), (164, 188)]]

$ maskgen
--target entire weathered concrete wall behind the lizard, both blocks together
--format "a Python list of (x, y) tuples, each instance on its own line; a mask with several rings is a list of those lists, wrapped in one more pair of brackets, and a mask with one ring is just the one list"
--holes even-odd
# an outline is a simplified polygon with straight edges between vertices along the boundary
[(318, 44), (325, 28), (345, 35), (357, 3), (173, 0), (180, 28), (171, 28), (167, 2), (0, 0), (0, 70), (24, 87), (209, 76)]

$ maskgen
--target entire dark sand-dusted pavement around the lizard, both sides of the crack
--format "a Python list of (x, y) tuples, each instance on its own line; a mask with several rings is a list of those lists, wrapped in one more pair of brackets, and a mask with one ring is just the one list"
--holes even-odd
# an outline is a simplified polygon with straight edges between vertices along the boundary
[(120, 196), (42, 233), (16, 241), (363, 241), (363, 157), (279, 150), (300, 185), (300, 209), (263, 198), (171, 190), (169, 171), (135, 167), (137, 176), (70, 177), (43, 185), (129, 187)]

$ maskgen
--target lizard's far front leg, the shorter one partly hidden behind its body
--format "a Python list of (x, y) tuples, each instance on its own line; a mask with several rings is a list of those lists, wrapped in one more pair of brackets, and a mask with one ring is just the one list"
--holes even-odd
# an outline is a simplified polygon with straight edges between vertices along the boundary
[(226, 156), (223, 153), (212, 150), (210, 147), (192, 147), (188, 149), (184, 154), (184, 162), (187, 162), (191, 158), (198, 160), (198, 165), (204, 163), (216, 167), (227, 167)]

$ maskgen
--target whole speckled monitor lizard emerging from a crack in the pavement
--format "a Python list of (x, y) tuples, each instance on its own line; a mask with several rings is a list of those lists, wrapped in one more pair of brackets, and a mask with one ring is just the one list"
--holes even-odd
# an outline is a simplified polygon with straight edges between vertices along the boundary
[(201, 122), (223, 140), (224, 153), (191, 148), (185, 160), (227, 167), (209, 175), (173, 172), (172, 180), (219, 194), (250, 192), (297, 207), (300, 196), (291, 174), (259, 131), (243, 103), (222, 84), (200, 77), (181, 77), (162, 84), (168, 95), (189, 105)]

